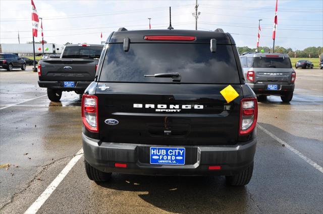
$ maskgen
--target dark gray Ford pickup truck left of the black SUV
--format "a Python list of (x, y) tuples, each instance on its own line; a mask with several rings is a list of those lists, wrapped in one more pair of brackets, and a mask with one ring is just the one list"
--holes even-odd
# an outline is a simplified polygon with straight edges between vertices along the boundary
[(59, 102), (63, 91), (83, 94), (94, 81), (103, 45), (66, 45), (60, 58), (42, 58), (38, 63), (38, 85), (47, 88), (50, 101)]

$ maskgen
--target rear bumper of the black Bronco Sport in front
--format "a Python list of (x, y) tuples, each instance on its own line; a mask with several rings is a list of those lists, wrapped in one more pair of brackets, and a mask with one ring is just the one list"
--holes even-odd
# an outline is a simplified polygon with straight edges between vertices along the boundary
[[(253, 163), (257, 142), (253, 139), (235, 146), (180, 146), (191, 151), (186, 153), (185, 165), (152, 165), (149, 148), (155, 145), (101, 142), (84, 133), (82, 139), (84, 158), (92, 167), (103, 172), (141, 175), (234, 175)], [(127, 168), (116, 168), (115, 163), (125, 163)], [(208, 166), (221, 166), (221, 170), (208, 170)]]

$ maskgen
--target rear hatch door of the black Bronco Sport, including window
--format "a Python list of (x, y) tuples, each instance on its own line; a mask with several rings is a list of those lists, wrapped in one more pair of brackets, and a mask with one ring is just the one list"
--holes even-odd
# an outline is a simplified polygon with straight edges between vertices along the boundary
[[(179, 73), (181, 81), (144, 77), (158, 73)], [(221, 94), (226, 87), (227, 94), (236, 95), (229, 103)], [(209, 44), (131, 43), (129, 52), (123, 44), (109, 44), (96, 95), (103, 141), (147, 145), (237, 142), (242, 90), (232, 45), (218, 44), (211, 53)], [(119, 123), (105, 122), (109, 119)]]

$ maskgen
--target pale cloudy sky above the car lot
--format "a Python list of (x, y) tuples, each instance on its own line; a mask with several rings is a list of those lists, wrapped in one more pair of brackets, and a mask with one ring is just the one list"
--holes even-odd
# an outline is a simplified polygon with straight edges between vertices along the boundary
[[(275, 0), (200, 1), (198, 30), (217, 28), (230, 32), (238, 46), (256, 46), (258, 19), (260, 46), (272, 46)], [(48, 43), (100, 43), (119, 27), (128, 30), (166, 29), (169, 6), (175, 29), (195, 29), (195, 0), (190, 1), (43, 1), (34, 0), (43, 18), (44, 40)], [(0, 42), (32, 41), (30, 0), (0, 0)], [(278, 1), (276, 45), (303, 49), (323, 46), (323, 1)], [(40, 29), (36, 41), (40, 41)]]

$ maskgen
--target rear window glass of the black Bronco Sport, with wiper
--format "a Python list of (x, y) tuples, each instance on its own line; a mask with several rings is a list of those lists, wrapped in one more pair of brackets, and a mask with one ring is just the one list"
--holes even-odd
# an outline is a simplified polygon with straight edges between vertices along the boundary
[(176, 83), (172, 78), (144, 77), (158, 73), (179, 73), (181, 83), (239, 84), (231, 45), (131, 43), (109, 44), (99, 81), (136, 83)]

